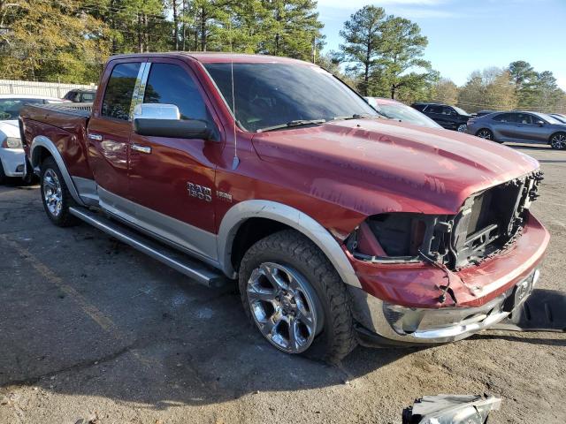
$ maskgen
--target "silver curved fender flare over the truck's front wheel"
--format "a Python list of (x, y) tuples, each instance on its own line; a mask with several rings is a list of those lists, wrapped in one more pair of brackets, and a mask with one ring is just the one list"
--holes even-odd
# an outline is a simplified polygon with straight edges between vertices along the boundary
[(218, 261), (227, 276), (233, 276), (235, 272), (230, 260), (234, 238), (241, 224), (249, 218), (271, 219), (302, 232), (332, 262), (344, 283), (362, 287), (346, 254), (332, 234), (300, 210), (276, 201), (241, 201), (226, 212), (218, 230), (217, 248)]

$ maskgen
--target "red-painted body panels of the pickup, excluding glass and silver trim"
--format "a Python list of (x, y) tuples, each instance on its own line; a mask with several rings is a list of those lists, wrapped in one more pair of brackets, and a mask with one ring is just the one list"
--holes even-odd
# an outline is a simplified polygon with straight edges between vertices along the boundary
[[(220, 140), (142, 137), (132, 133), (130, 123), (100, 116), (111, 66), (146, 58), (182, 64), (196, 79)], [(491, 141), (376, 118), (272, 133), (236, 128), (240, 166), (233, 170), (233, 117), (202, 64), (230, 61), (312, 66), (282, 57), (227, 54), (112, 57), (88, 131), (115, 141), (114, 155), (86, 139), (84, 118), (55, 112), (46, 117), (45, 110), (33, 107), (22, 111), (27, 140), (38, 134), (50, 137), (73, 176), (95, 178), (113, 193), (206, 231), (218, 232), (226, 211), (237, 202), (261, 199), (301, 210), (339, 242), (367, 216), (393, 211), (453, 215), (470, 194), (539, 168), (530, 156)], [(152, 155), (131, 151), (133, 142), (151, 147)], [(213, 196), (214, 201), (205, 203), (189, 197), (187, 181), (210, 187), (212, 193), (231, 193), (233, 202)], [(481, 305), (516, 284), (542, 260), (547, 242), (547, 231), (531, 216), (508, 250), (479, 266), (450, 273), (458, 305)], [(363, 289), (380, 299), (409, 307), (450, 306), (449, 298), (443, 305), (437, 300), (438, 286), (447, 284), (440, 269), (423, 263), (378, 265), (350, 254), (348, 258)]]

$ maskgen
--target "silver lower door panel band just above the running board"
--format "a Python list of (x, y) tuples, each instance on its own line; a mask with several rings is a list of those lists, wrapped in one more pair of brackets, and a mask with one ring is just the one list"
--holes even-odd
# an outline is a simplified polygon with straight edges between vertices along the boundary
[(98, 186), (97, 192), (100, 196), (100, 207), (111, 216), (221, 269), (218, 264), (215, 234), (129, 201), (102, 186)]

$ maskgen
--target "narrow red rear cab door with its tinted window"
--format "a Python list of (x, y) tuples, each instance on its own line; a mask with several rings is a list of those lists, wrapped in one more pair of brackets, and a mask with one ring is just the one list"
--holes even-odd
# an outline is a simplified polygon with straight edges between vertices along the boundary
[(102, 97), (88, 122), (88, 160), (106, 206), (119, 208), (119, 198), (128, 197), (129, 139), (131, 112), (142, 80), (141, 59), (109, 64), (100, 87)]

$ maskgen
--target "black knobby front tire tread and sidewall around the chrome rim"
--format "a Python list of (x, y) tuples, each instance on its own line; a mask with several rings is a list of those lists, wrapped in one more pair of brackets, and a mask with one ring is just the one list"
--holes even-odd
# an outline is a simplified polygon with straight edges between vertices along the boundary
[(256, 328), (249, 307), (247, 284), (251, 272), (266, 261), (292, 267), (302, 274), (317, 294), (324, 325), (303, 355), (338, 363), (356, 347), (356, 333), (346, 285), (325, 254), (310, 239), (294, 230), (273, 233), (251, 246), (239, 271), (241, 302)]

